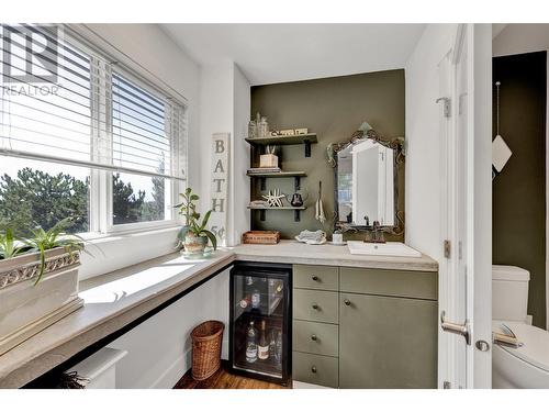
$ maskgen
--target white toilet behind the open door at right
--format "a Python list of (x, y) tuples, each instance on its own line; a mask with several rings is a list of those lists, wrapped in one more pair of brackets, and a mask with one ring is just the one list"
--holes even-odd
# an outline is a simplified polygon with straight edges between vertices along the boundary
[(516, 266), (492, 267), (492, 330), (509, 327), (523, 346), (493, 345), (494, 389), (549, 389), (549, 332), (533, 326), (527, 315), (530, 274)]

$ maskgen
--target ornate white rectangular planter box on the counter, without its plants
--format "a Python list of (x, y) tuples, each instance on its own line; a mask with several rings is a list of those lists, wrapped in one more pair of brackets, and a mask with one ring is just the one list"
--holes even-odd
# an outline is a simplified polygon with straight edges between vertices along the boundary
[(80, 255), (46, 250), (42, 280), (37, 253), (0, 260), (0, 355), (83, 305), (78, 298)]

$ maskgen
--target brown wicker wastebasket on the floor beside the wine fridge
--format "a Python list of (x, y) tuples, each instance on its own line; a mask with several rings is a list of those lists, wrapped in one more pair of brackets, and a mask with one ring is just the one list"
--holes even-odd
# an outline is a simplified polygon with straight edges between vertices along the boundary
[(192, 330), (192, 378), (194, 380), (208, 379), (220, 368), (224, 329), (223, 322), (208, 321)]

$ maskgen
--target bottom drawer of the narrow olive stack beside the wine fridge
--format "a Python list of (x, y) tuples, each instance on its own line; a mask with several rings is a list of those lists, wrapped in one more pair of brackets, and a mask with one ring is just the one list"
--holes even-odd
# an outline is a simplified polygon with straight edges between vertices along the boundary
[(337, 388), (339, 383), (337, 358), (301, 352), (294, 352), (292, 358), (292, 378), (294, 380)]

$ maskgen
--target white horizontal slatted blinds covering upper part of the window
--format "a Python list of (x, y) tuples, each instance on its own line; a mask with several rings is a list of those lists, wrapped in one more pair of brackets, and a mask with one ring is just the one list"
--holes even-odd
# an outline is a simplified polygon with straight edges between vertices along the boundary
[(47, 29), (1, 30), (0, 154), (184, 180), (181, 104)]

